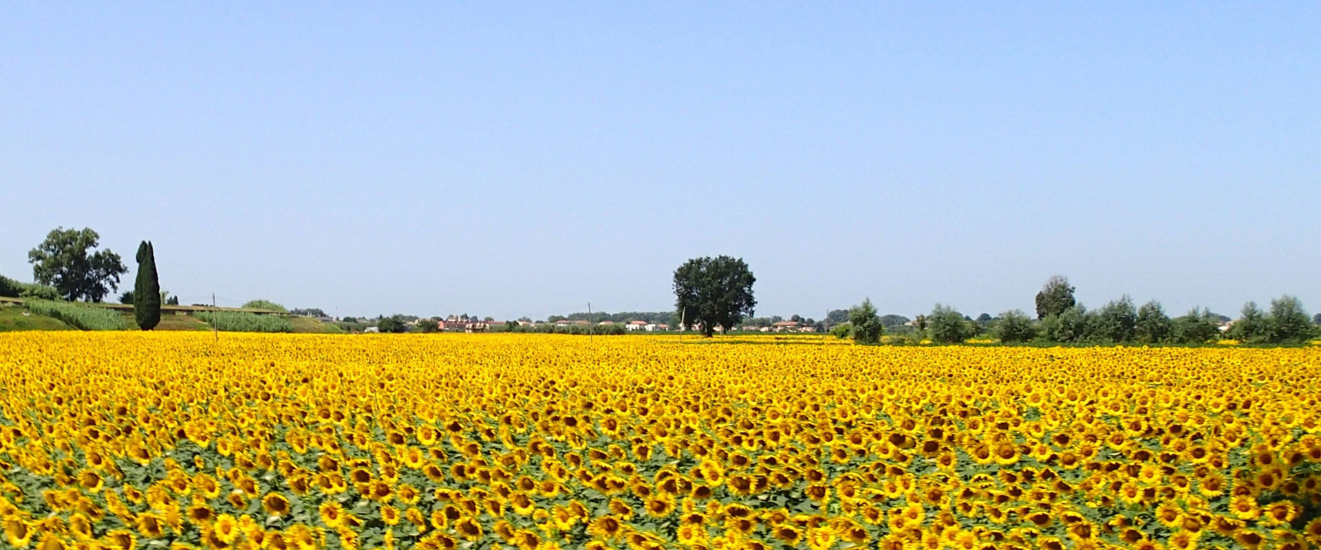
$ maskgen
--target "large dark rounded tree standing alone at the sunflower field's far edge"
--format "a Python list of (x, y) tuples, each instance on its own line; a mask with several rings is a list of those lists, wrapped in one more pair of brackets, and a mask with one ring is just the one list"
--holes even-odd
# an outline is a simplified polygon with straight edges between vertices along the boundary
[(715, 334), (717, 324), (733, 328), (757, 307), (753, 282), (757, 278), (742, 259), (717, 256), (686, 261), (674, 272), (675, 311), (683, 315), (680, 324), (700, 324), (707, 338)]

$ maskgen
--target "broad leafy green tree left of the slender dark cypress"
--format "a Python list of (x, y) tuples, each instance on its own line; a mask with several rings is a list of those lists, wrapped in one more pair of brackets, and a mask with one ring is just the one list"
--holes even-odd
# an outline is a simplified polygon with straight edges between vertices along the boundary
[(57, 227), (37, 248), (28, 251), (32, 276), (38, 284), (54, 286), (65, 299), (100, 302), (128, 273), (119, 255), (110, 249), (91, 252), (100, 235), (91, 228)]

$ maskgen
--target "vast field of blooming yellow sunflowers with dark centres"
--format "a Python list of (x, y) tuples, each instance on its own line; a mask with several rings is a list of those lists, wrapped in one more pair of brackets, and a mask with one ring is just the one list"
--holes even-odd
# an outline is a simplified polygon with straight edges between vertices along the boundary
[(0, 334), (20, 549), (1321, 547), (1321, 348)]

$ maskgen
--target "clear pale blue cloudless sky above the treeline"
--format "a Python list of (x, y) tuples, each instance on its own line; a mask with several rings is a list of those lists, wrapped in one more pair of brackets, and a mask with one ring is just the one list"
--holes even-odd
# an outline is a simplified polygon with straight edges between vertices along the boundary
[[(0, 273), (57, 226), (185, 303), (1321, 309), (1316, 3), (0, 4)], [(132, 272), (125, 277), (131, 285)]]

